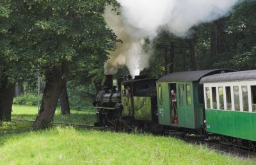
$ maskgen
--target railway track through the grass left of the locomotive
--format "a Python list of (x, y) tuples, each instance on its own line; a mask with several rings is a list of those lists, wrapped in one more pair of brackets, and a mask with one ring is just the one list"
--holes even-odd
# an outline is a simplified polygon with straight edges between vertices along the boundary
[[(35, 120), (25, 120), (25, 119), (12, 119), (12, 122), (29, 122), (34, 123)], [(83, 129), (96, 129), (96, 130), (106, 130), (108, 127), (94, 127), (93, 125), (81, 125), (81, 124), (73, 124), (73, 123), (58, 123), (52, 122), (53, 125), (63, 125), (63, 126), (71, 126), (71, 127), (78, 127)]]

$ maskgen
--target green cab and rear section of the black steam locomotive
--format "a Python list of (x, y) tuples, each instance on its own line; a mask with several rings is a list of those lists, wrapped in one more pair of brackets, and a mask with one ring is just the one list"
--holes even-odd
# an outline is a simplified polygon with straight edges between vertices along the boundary
[[(125, 86), (131, 86), (131, 97), (125, 96)], [(156, 109), (156, 79), (131, 79), (122, 83), (122, 116), (143, 122), (154, 122)]]

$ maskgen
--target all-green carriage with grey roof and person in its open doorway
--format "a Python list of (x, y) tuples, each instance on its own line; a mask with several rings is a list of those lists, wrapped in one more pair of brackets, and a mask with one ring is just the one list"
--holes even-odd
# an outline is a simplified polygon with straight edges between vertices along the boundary
[[(202, 84), (198, 82), (205, 75), (218, 74), (221, 71), (223, 69), (175, 72), (159, 79), (156, 83), (159, 124), (188, 129), (204, 127), (204, 93)], [(173, 88), (177, 99), (177, 122), (173, 121), (172, 113), (170, 91)]]

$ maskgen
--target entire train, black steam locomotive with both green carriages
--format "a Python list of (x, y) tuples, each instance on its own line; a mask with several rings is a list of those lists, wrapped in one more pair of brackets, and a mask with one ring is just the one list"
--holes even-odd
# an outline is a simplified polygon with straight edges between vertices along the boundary
[(93, 106), (96, 126), (173, 130), (256, 148), (256, 70), (174, 72), (158, 80), (119, 77), (117, 86), (113, 75), (106, 75)]

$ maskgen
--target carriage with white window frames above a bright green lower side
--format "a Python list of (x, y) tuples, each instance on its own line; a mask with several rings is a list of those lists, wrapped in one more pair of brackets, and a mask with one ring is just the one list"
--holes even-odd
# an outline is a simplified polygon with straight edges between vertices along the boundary
[(207, 132), (256, 141), (256, 70), (210, 75), (201, 83)]

